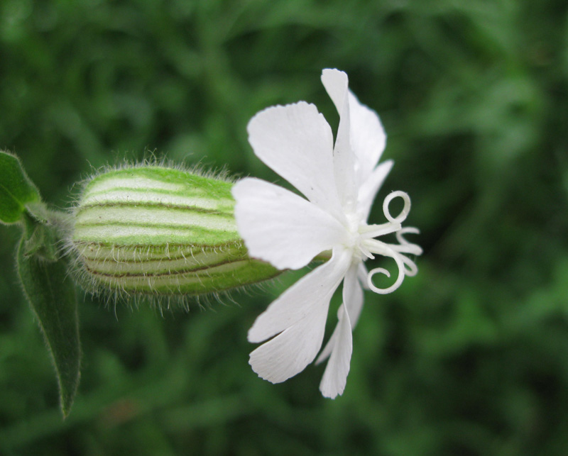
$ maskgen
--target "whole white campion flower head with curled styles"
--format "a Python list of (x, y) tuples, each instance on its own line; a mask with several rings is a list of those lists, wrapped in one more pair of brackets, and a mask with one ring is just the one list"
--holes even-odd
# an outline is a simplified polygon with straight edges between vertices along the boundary
[[(324, 69), (322, 82), (339, 112), (337, 139), (316, 106), (300, 101), (273, 106), (249, 122), (249, 142), (255, 154), (307, 199), (274, 184), (246, 178), (232, 192), (236, 199), (237, 227), (249, 255), (278, 269), (300, 269), (331, 250), (331, 259), (300, 279), (258, 316), (249, 330), (249, 341), (260, 343), (249, 363), (263, 379), (283, 382), (312, 362), (322, 346), (329, 301), (343, 281), (343, 304), (338, 323), (317, 363), (329, 357), (320, 384), (322, 394), (342, 394), (349, 373), (351, 330), (363, 306), (363, 288), (386, 294), (397, 289), (405, 275), (417, 267), (410, 255), (422, 250), (403, 238), (418, 233), (402, 228), (410, 210), (403, 191), (389, 194), (383, 202), (386, 223), (369, 225), (373, 199), (393, 162), (377, 166), (386, 135), (377, 114), (359, 103), (348, 89), (348, 79), (337, 69)], [(392, 199), (404, 201), (393, 217)], [(398, 244), (377, 238), (396, 233)], [(390, 276), (383, 268), (367, 272), (364, 261), (374, 255), (391, 257), (398, 277), (381, 289), (373, 274)]]

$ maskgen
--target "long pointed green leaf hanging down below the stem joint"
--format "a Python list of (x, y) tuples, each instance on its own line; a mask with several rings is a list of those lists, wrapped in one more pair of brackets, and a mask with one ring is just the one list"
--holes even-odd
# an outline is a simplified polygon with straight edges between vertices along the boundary
[(67, 277), (65, 260), (48, 261), (38, 252), (28, 253), (37, 229), (33, 225), (26, 229), (18, 245), (18, 275), (53, 359), (65, 417), (71, 409), (80, 377), (77, 298), (75, 287)]

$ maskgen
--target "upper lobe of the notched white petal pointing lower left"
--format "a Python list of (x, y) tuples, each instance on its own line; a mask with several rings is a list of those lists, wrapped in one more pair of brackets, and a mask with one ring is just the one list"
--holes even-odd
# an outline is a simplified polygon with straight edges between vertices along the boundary
[(351, 254), (335, 250), (332, 258), (305, 275), (261, 313), (249, 330), (249, 342), (262, 342), (305, 318), (312, 306), (329, 304), (344, 278)]

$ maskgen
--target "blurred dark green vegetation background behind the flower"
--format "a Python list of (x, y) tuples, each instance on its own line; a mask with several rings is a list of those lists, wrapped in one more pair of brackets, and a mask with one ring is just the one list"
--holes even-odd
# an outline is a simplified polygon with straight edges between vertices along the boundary
[(148, 150), (276, 180), (246, 123), (303, 99), (337, 126), (319, 79), (337, 67), (381, 115), (395, 167), (379, 199), (408, 191), (425, 254), (394, 294), (366, 294), (334, 401), (317, 389), (323, 366), (272, 385), (247, 363), (246, 331), (302, 273), (234, 294), (238, 305), (163, 316), (80, 295), (82, 383), (62, 421), (11, 267), (18, 229), (0, 227), (0, 453), (567, 454), (567, 11), (2, 0), (0, 148), (50, 204), (70, 206), (93, 168)]

